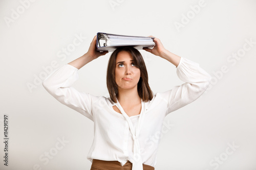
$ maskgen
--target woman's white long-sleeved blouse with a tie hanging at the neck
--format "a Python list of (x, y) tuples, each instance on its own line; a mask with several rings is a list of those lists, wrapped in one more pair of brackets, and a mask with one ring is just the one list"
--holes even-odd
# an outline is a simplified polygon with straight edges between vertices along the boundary
[[(94, 139), (87, 159), (127, 160), (133, 170), (142, 170), (142, 163), (155, 167), (159, 136), (164, 117), (199, 98), (210, 82), (210, 75), (198, 63), (181, 57), (177, 75), (185, 83), (154, 94), (150, 102), (141, 101), (141, 112), (128, 116), (117, 101), (77, 91), (72, 84), (78, 80), (78, 69), (65, 64), (55, 69), (42, 85), (60, 103), (76, 110), (94, 122)], [(113, 109), (116, 106), (122, 114)]]

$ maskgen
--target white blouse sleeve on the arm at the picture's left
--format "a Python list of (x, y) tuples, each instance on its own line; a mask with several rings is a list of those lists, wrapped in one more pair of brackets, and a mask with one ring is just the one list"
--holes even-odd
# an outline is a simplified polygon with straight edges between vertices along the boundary
[(78, 80), (78, 69), (70, 64), (65, 64), (55, 69), (42, 82), (42, 86), (60, 103), (93, 121), (91, 95), (71, 87), (76, 80)]

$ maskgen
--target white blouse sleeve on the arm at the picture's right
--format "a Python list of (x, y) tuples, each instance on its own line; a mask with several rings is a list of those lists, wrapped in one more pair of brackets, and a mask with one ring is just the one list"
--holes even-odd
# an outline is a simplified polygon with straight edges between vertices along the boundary
[(210, 84), (211, 76), (196, 62), (181, 57), (177, 76), (185, 82), (171, 90), (159, 93), (167, 102), (166, 114), (173, 112), (198, 99)]

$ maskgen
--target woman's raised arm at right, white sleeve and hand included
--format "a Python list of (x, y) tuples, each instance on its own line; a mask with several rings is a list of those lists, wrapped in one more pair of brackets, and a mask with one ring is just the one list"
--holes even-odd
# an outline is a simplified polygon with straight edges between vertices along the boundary
[(166, 102), (165, 115), (167, 115), (198, 99), (210, 84), (211, 76), (198, 63), (167, 51), (158, 38), (154, 41), (156, 45), (152, 50), (150, 48), (143, 50), (173, 63), (177, 68), (177, 76), (185, 82), (173, 89), (155, 94), (161, 102)]

